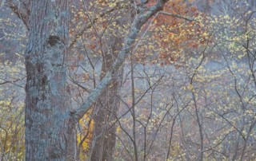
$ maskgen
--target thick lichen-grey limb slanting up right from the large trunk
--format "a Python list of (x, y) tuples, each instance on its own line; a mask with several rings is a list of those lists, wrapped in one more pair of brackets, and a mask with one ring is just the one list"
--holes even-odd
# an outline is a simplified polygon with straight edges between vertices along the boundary
[(138, 14), (135, 17), (134, 22), (130, 27), (130, 33), (126, 36), (124, 40), (122, 50), (118, 53), (116, 61), (114, 62), (110, 70), (106, 73), (106, 76), (97, 85), (97, 87), (94, 88), (94, 91), (90, 92), (90, 95), (87, 97), (86, 102), (84, 102), (78, 108), (78, 110), (70, 112), (70, 115), (73, 117), (75, 121), (80, 120), (82, 116), (86, 114), (88, 109), (90, 109), (92, 104), (94, 104), (98, 100), (98, 98), (102, 96), (102, 93), (105, 91), (107, 86), (110, 84), (111, 80), (114, 78), (115, 71), (123, 65), (124, 61), (126, 60), (126, 57), (130, 54), (130, 49), (134, 45), (134, 41), (138, 36), (138, 33), (142, 26), (154, 14), (156, 14), (159, 10), (162, 10), (166, 2), (168, 2), (168, 0), (160, 0), (156, 5), (147, 8), (143, 14)]

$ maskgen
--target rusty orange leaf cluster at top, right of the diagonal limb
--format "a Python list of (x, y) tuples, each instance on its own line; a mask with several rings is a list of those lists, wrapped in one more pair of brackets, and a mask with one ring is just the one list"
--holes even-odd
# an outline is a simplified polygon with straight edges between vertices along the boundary
[[(154, 1), (148, 4), (152, 5)], [(189, 3), (182, 0), (168, 2), (164, 11), (149, 22), (150, 41), (147, 37), (146, 47), (138, 49), (138, 60), (145, 63), (149, 61), (147, 57), (150, 57), (151, 63), (161, 65), (181, 61), (180, 58), (185, 54), (206, 43), (209, 33), (202, 24), (204, 18), (205, 14), (189, 6)]]

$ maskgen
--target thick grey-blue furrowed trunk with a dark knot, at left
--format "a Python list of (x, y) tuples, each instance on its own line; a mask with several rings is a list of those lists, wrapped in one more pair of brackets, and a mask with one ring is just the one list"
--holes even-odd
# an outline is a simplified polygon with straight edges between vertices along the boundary
[(32, 0), (26, 47), (26, 160), (73, 160), (75, 123), (66, 116), (68, 1)]

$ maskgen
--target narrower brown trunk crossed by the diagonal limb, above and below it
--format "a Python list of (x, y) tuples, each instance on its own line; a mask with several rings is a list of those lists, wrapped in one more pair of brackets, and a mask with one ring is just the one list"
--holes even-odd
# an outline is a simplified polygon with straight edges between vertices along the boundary
[[(121, 49), (122, 38), (110, 37), (112, 53), (106, 53), (102, 65), (101, 79), (113, 65), (114, 60)], [(121, 69), (122, 70), (122, 69)], [(116, 77), (97, 100), (94, 108), (94, 140), (91, 160), (113, 160), (115, 147), (116, 126), (113, 125), (117, 116), (119, 100), (117, 97), (118, 87), (122, 81), (122, 71), (115, 72)]]

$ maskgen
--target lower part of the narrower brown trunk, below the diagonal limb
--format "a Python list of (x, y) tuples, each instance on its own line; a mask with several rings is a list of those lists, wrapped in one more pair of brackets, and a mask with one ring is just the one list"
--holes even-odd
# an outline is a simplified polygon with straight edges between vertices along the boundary
[(116, 126), (112, 124), (115, 120), (114, 115), (117, 115), (119, 102), (116, 96), (118, 81), (115, 80), (114, 83), (113, 87), (103, 93), (94, 111), (94, 140), (91, 154), (91, 160), (94, 161), (113, 160)]

